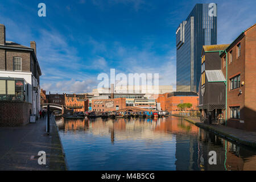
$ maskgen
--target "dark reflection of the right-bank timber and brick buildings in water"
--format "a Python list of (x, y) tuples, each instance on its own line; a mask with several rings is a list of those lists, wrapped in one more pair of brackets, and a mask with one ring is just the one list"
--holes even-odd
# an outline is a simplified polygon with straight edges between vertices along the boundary
[[(216, 151), (217, 165), (209, 164), (209, 151)], [(256, 170), (255, 151), (237, 146), (204, 130), (199, 132), (199, 159), (203, 161), (201, 170)]]

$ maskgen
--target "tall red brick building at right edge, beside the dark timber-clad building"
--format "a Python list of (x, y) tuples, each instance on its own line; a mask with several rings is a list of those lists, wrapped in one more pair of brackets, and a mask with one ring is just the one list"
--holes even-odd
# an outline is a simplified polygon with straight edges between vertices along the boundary
[(255, 51), (256, 24), (243, 31), (220, 55), (222, 72), (228, 78), (224, 113), (227, 126), (250, 131), (256, 131)]

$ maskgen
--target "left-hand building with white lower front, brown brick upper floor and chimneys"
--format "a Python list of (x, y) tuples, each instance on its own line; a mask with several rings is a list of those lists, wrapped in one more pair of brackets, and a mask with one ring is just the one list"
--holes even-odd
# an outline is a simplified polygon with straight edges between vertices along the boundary
[(30, 114), (39, 115), (42, 75), (36, 57), (36, 43), (30, 47), (5, 40), (5, 26), (0, 24), (0, 101), (31, 104)]

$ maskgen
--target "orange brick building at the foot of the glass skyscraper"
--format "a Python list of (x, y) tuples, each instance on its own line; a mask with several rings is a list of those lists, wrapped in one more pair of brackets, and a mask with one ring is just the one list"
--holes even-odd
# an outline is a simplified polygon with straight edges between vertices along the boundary
[(162, 110), (167, 110), (168, 112), (174, 114), (180, 111), (177, 105), (183, 103), (191, 103), (192, 107), (188, 110), (197, 110), (197, 105), (199, 96), (195, 92), (171, 92), (159, 94), (159, 97), (156, 99), (157, 103), (160, 103)]

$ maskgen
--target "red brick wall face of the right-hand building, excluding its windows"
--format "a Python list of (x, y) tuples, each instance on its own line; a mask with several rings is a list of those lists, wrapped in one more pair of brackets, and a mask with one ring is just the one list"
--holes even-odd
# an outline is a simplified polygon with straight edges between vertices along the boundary
[[(245, 36), (237, 39), (234, 45), (230, 47), (228, 52), (228, 111), (227, 125), (242, 130), (256, 130), (256, 62), (255, 62), (255, 36), (256, 26), (245, 32)], [(241, 56), (237, 57), (237, 44), (241, 43)], [(232, 63), (230, 63), (229, 52), (232, 50)], [(226, 67), (224, 68), (224, 55), (221, 57), (222, 72), (226, 77)], [(230, 78), (240, 75), (240, 88), (230, 90)], [(240, 93), (242, 91), (242, 94)], [(230, 118), (230, 106), (240, 106), (240, 119)], [(224, 112), (225, 117), (225, 112)], [(242, 122), (244, 123), (242, 123)]]

